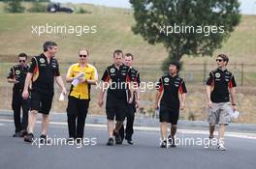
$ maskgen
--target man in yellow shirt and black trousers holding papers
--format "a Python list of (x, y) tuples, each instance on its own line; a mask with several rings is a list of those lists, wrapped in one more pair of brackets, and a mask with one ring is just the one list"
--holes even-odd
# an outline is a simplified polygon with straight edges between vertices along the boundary
[(83, 138), (91, 85), (95, 85), (98, 80), (97, 70), (88, 64), (88, 50), (81, 49), (79, 56), (80, 62), (72, 65), (66, 76), (66, 81), (72, 83), (67, 107), (68, 141), (77, 139), (77, 142), (80, 142)]

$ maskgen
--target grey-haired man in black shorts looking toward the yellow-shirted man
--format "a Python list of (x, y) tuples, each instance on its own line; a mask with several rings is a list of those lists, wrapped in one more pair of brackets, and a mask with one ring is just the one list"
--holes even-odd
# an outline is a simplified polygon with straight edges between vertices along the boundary
[(47, 141), (48, 113), (51, 108), (51, 102), (54, 95), (54, 78), (61, 87), (62, 93), (66, 95), (67, 91), (59, 73), (59, 65), (54, 58), (57, 52), (55, 42), (44, 43), (44, 53), (35, 56), (31, 60), (29, 72), (27, 73), (25, 86), (22, 93), (23, 99), (28, 98), (28, 86), (32, 80), (31, 90), (31, 112), (29, 115), (28, 134), (24, 141), (32, 142), (34, 127), (37, 120), (37, 113), (42, 113), (42, 134), (40, 141)]

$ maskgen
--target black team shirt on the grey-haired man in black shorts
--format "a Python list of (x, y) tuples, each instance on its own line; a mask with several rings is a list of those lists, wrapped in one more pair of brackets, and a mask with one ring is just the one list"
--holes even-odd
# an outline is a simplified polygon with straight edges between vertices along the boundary
[(54, 77), (59, 76), (59, 65), (56, 59), (47, 57), (42, 53), (31, 59), (29, 72), (33, 73), (32, 91), (46, 95), (54, 94)]

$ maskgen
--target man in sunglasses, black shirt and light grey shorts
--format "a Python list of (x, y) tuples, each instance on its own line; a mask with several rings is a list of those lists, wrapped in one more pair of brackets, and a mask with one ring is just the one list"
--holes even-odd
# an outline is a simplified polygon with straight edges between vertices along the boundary
[(230, 122), (229, 93), (231, 94), (233, 110), (236, 111), (235, 87), (237, 84), (233, 73), (226, 69), (229, 58), (224, 54), (220, 54), (217, 56), (216, 62), (218, 68), (211, 70), (207, 79), (209, 140), (206, 148), (211, 146), (215, 125), (218, 124), (217, 149), (225, 151), (225, 126)]

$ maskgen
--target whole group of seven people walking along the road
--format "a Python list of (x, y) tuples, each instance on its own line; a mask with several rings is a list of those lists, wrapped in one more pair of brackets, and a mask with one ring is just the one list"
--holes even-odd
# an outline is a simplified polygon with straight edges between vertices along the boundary
[[(48, 114), (54, 95), (54, 81), (61, 89), (62, 95), (68, 95), (67, 123), (69, 138), (67, 141), (80, 142), (84, 134), (84, 124), (90, 103), (91, 85), (98, 82), (96, 68), (88, 63), (89, 51), (79, 50), (79, 62), (73, 64), (66, 74), (66, 82), (71, 83), (69, 94), (60, 76), (59, 64), (55, 59), (58, 50), (56, 42), (45, 42), (44, 52), (32, 57), (27, 64), (27, 55), (18, 55), (19, 63), (13, 66), (8, 74), (8, 82), (14, 83), (12, 107), (14, 110), (14, 137), (24, 137), (25, 142), (34, 139), (34, 127), (37, 114), (42, 114), (42, 133), (40, 140), (48, 141)], [(103, 73), (102, 87), (98, 96), (98, 105), (103, 107), (106, 99), (106, 114), (108, 120), (108, 146), (122, 144), (125, 139), (128, 144), (134, 144), (132, 135), (135, 112), (140, 107), (140, 71), (133, 68), (134, 56), (124, 54), (122, 50), (114, 50), (112, 65)], [(206, 82), (208, 96), (209, 141), (211, 146), (215, 125), (219, 125), (218, 150), (225, 150), (224, 133), (229, 124), (230, 98), (233, 110), (237, 110), (236, 81), (234, 74), (227, 70), (229, 58), (220, 54), (216, 57), (217, 69), (211, 70)], [(186, 85), (178, 76), (179, 64), (169, 64), (167, 74), (159, 78), (156, 87), (155, 109), (159, 109), (161, 130), (161, 148), (176, 147), (176, 125), (179, 111), (185, 108)], [(22, 108), (22, 120), (20, 118)], [(124, 121), (126, 119), (126, 127)], [(115, 121), (115, 123), (114, 123)], [(168, 134), (168, 124), (171, 124), (171, 134)]]

